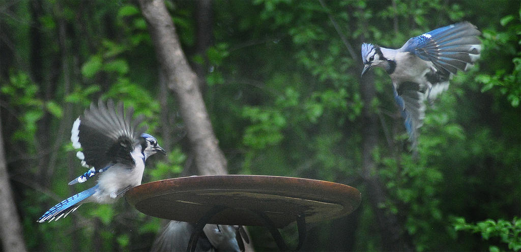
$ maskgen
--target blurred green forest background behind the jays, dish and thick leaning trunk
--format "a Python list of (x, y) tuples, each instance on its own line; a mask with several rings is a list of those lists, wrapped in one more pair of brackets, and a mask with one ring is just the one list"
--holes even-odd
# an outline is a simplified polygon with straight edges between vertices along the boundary
[[(521, 249), (519, 1), (165, 4), (228, 173), (327, 180), (362, 193), (350, 216), (310, 224), (303, 250)], [(398, 48), (463, 20), (483, 33), (481, 59), (429, 106), (414, 160), (388, 75), (375, 69), (360, 79), (360, 44)], [(69, 138), (99, 97), (145, 115), (167, 149), (147, 161), (143, 183), (197, 173), (139, 4), (0, 1), (0, 53), (3, 144), (27, 249), (150, 250), (164, 221), (125, 200), (36, 223), (92, 186), (67, 185), (84, 172)], [(250, 232), (257, 250), (277, 249), (266, 229)], [(283, 235), (296, 244), (293, 225)]]

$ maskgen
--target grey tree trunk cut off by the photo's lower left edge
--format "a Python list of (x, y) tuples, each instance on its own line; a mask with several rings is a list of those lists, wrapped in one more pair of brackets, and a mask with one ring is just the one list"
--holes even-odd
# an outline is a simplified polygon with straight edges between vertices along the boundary
[(4, 152), (4, 140), (2, 136), (2, 122), (0, 121), (0, 240), (3, 251), (27, 251), (23, 241), (20, 218), (16, 211), (15, 200), (9, 174), (7, 172), (7, 160)]

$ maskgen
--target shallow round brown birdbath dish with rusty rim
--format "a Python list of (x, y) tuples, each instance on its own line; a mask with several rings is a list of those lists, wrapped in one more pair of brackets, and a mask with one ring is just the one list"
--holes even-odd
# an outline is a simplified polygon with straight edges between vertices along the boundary
[(355, 188), (327, 181), (264, 175), (208, 175), (160, 180), (129, 190), (128, 202), (146, 215), (196, 222), (224, 206), (208, 223), (264, 225), (264, 212), (282, 228), (305, 215), (306, 222), (348, 215), (360, 204)]

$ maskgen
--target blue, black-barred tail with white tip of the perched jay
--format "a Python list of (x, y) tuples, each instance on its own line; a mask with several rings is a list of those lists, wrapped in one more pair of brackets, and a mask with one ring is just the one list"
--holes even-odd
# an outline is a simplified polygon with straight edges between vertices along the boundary
[(61, 217), (66, 217), (69, 215), (69, 213), (75, 211), (78, 209), (78, 207), (81, 206), (81, 201), (85, 200), (86, 198), (92, 196), (99, 185), (95, 185), (94, 187), (91, 187), (81, 193), (78, 193), (76, 195), (72, 195), (67, 199), (64, 199), (60, 203), (56, 204), (56, 206), (52, 207), (48, 211), (46, 211), (40, 219), (38, 219), (38, 222), (45, 222), (45, 221), (57, 221)]

